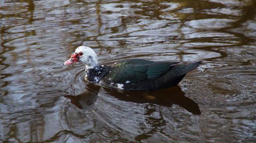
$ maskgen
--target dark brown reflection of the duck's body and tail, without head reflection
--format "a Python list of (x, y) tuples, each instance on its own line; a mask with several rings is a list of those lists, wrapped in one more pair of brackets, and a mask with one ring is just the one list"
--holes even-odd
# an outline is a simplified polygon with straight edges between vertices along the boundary
[(179, 86), (148, 92), (121, 91), (120, 93), (118, 90), (107, 88), (105, 88), (105, 90), (109, 95), (112, 95), (123, 101), (135, 103), (152, 103), (166, 107), (171, 107), (173, 104), (176, 104), (195, 115), (201, 114), (198, 104), (192, 99), (184, 96), (185, 93), (181, 91)]

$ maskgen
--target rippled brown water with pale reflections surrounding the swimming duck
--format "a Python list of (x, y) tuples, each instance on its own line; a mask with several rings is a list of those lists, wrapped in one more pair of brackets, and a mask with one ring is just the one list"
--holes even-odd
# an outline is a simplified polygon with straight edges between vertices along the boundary
[[(0, 2), (0, 142), (255, 142), (255, 1)], [(62, 66), (203, 61), (179, 87), (116, 91)], [(77, 95), (77, 96), (76, 96)]]

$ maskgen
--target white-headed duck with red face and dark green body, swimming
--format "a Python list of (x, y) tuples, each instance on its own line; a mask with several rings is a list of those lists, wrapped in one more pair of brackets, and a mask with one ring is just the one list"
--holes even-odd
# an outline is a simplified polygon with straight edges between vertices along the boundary
[(76, 62), (85, 65), (84, 79), (90, 83), (111, 89), (149, 91), (175, 87), (187, 72), (197, 68), (202, 61), (179, 65), (180, 62), (127, 59), (113, 65), (100, 65), (95, 51), (82, 45), (63, 65)]

